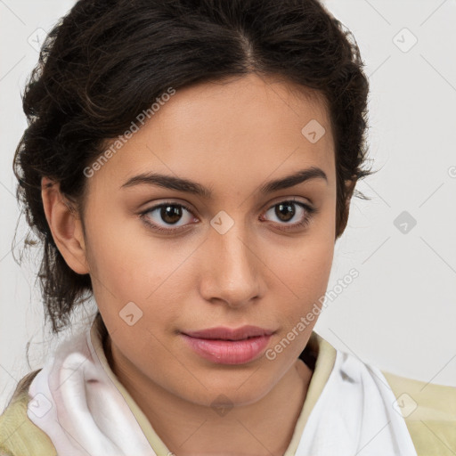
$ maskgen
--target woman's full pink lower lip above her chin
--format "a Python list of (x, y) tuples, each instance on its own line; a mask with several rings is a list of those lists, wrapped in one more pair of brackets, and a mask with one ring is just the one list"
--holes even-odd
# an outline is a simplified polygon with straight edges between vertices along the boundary
[(219, 364), (244, 364), (263, 353), (271, 336), (258, 336), (243, 340), (216, 340), (191, 338), (182, 334), (183, 339), (194, 352), (211, 362)]

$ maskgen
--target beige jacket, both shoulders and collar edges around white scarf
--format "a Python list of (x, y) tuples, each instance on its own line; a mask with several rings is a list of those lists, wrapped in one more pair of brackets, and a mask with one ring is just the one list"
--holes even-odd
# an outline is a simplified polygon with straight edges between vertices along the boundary
[[(170, 452), (166, 444), (162, 442), (137, 403), (111, 371), (102, 348), (103, 334), (99, 323), (99, 319), (95, 319), (91, 328), (91, 339), (103, 368), (124, 396), (154, 452), (158, 456), (167, 456)], [(314, 374), (308, 387), (303, 409), (297, 419), (294, 434), (284, 456), (295, 455), (305, 422), (330, 377), (336, 359), (336, 349), (313, 332), (305, 350), (299, 357), (313, 369)], [(27, 415), (28, 386), (38, 371), (28, 373), (20, 380), (12, 400), (0, 416), (0, 455), (2, 456), (56, 455), (49, 437), (40, 428), (37, 428)], [(382, 373), (395, 394), (398, 410), (402, 411), (418, 455), (455, 456), (456, 387), (444, 387), (407, 379), (386, 371), (382, 371)]]

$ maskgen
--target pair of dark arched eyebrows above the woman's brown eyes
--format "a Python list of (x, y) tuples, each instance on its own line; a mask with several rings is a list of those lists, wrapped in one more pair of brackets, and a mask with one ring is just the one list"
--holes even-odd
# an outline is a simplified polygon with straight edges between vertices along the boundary
[[(328, 183), (328, 177), (321, 168), (309, 167), (292, 175), (287, 175), (281, 179), (265, 183), (259, 188), (259, 191), (263, 194), (271, 193), (273, 191), (294, 187), (298, 183), (303, 183), (312, 179), (324, 179), (326, 183)], [(126, 183), (123, 183), (120, 188), (133, 187), (140, 184), (156, 185), (170, 190), (185, 191), (206, 199), (210, 199), (212, 196), (212, 191), (200, 183), (181, 177), (175, 177), (173, 175), (161, 175), (158, 173), (134, 175), (128, 179)]]

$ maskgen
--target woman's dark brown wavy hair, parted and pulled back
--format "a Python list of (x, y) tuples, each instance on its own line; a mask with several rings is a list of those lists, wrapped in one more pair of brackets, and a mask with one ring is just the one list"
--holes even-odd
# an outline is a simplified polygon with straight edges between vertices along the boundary
[(28, 78), (22, 95), (28, 127), (13, 164), (18, 199), (44, 248), (38, 277), (53, 332), (69, 323), (92, 284), (55, 246), (43, 176), (60, 183), (82, 211), (85, 167), (168, 87), (272, 75), (322, 95), (329, 112), (337, 239), (351, 196), (345, 181), (371, 174), (362, 169), (369, 92), (362, 68), (354, 37), (317, 0), (77, 1), (46, 37)]

